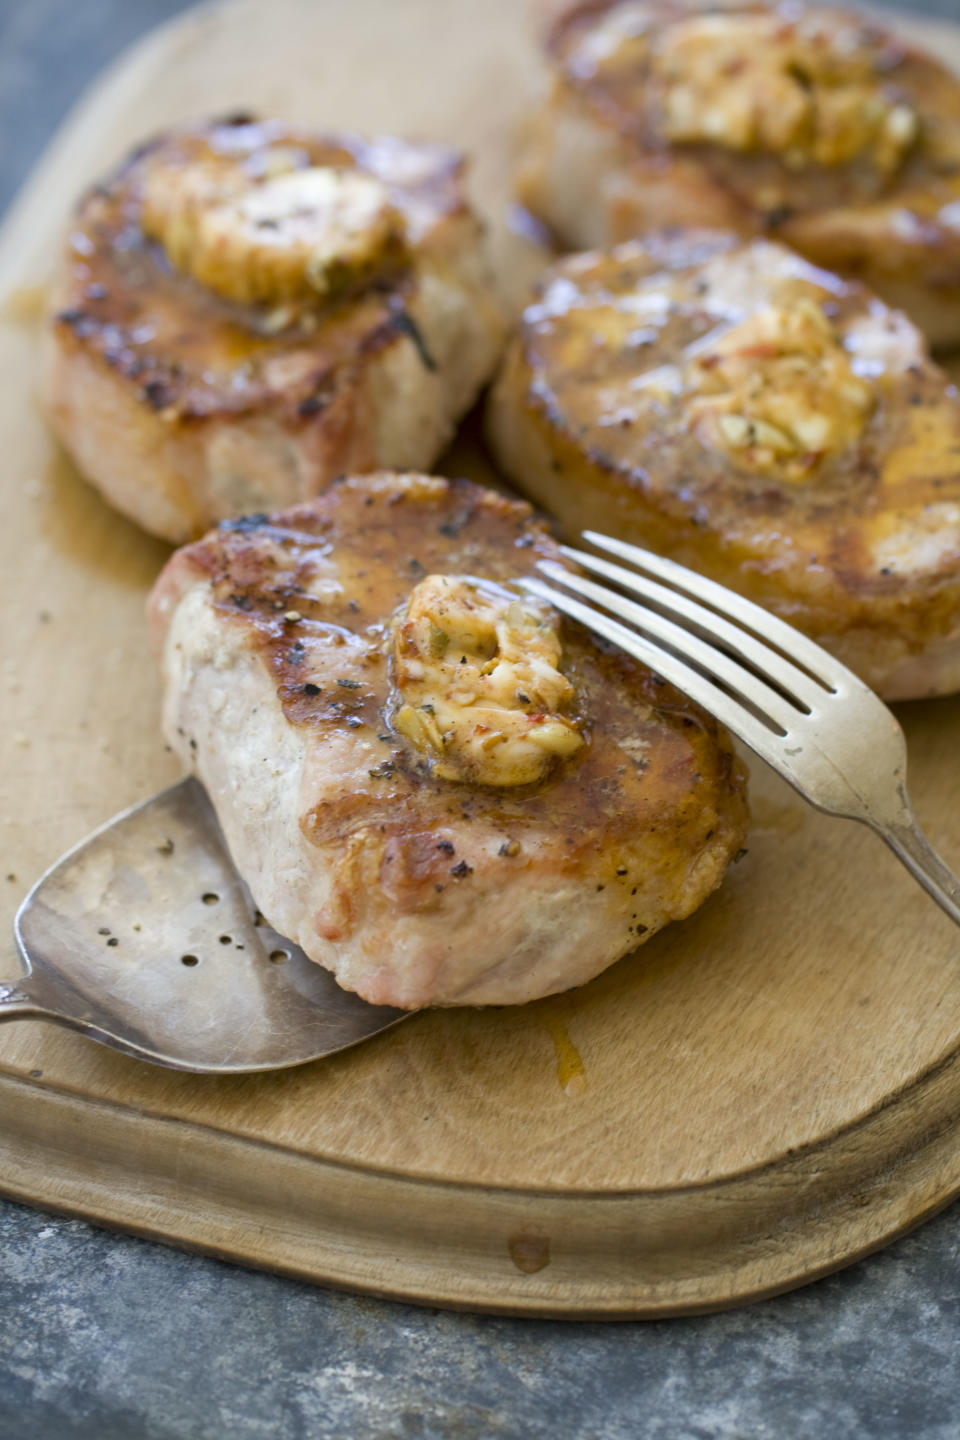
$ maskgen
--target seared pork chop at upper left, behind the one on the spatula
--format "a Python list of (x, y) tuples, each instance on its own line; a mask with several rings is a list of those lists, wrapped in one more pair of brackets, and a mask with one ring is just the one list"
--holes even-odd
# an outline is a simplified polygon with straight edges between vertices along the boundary
[(142, 145), (82, 200), (43, 390), (81, 471), (183, 541), (345, 471), (429, 465), (501, 340), (459, 156), (236, 117)]

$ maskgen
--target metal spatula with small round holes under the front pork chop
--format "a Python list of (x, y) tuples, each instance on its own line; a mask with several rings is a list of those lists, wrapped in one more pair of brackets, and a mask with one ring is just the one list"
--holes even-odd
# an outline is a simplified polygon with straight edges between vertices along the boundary
[(16, 919), (0, 1021), (52, 1020), (176, 1070), (276, 1070), (409, 1012), (367, 1005), (258, 914), (206, 792), (181, 780), (53, 865)]

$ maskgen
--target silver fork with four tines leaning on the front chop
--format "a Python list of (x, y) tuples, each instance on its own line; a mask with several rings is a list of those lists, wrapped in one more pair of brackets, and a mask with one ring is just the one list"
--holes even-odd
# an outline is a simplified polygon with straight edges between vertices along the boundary
[(583, 539), (632, 566), (563, 547), (616, 590), (550, 560), (540, 570), (554, 585), (531, 577), (524, 586), (698, 701), (818, 809), (875, 829), (960, 924), (960, 878), (917, 824), (907, 743), (882, 700), (820, 645), (725, 586), (623, 540), (593, 530)]

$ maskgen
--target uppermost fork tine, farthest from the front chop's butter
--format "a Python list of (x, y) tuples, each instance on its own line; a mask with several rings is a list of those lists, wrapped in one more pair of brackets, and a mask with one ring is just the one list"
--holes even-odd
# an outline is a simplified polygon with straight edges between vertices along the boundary
[(753, 600), (746, 600), (743, 595), (737, 595), (715, 580), (708, 580), (705, 576), (688, 570), (675, 560), (666, 560), (661, 554), (653, 554), (652, 550), (628, 544), (625, 540), (616, 540), (613, 536), (599, 534), (596, 530), (584, 530), (583, 539), (596, 546), (597, 550), (607, 550), (610, 554), (628, 560), (638, 569), (646, 570), (648, 575), (655, 575), (658, 579), (666, 580), (668, 585), (675, 586), (685, 595), (691, 595), (695, 600), (701, 600), (720, 615), (735, 621), (738, 625), (744, 625), (761, 641), (777, 645), (793, 661), (803, 665), (810, 675), (823, 683), (828, 690), (843, 688), (871, 694), (853, 671), (848, 670), (839, 660), (835, 660), (833, 655), (815, 641), (807, 639), (800, 631), (787, 625), (786, 621), (777, 619), (770, 611), (761, 609)]

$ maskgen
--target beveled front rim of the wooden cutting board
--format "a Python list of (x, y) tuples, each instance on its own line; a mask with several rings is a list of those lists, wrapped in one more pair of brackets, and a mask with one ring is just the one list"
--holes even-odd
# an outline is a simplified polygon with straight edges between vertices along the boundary
[[(950, 1099), (960, 1056), (946, 1068)], [(871, 1165), (861, 1184), (818, 1185), (838, 1171), (818, 1172), (810, 1161), (823, 1156), (796, 1155), (779, 1175), (780, 1189), (802, 1197), (793, 1210), (771, 1208), (764, 1187), (746, 1178), (689, 1192), (694, 1204), (678, 1217), (676, 1197), (665, 1194), (538, 1195), (387, 1176), (181, 1119), (102, 1100), (91, 1106), (7, 1074), (0, 1097), (16, 1103), (19, 1119), (0, 1132), (0, 1194), (10, 1200), (301, 1280), (484, 1313), (662, 1319), (756, 1303), (864, 1259), (933, 1217), (960, 1188), (956, 1103), (918, 1143)], [(907, 1120), (920, 1117), (923, 1102), (907, 1100)], [(83, 1138), (89, 1120), (92, 1156)], [(902, 1136), (911, 1128), (895, 1129)], [(841, 1139), (841, 1159), (864, 1155), (861, 1130)], [(226, 1201), (225, 1176), (237, 1181)], [(459, 1205), (450, 1205), (452, 1191)]]

